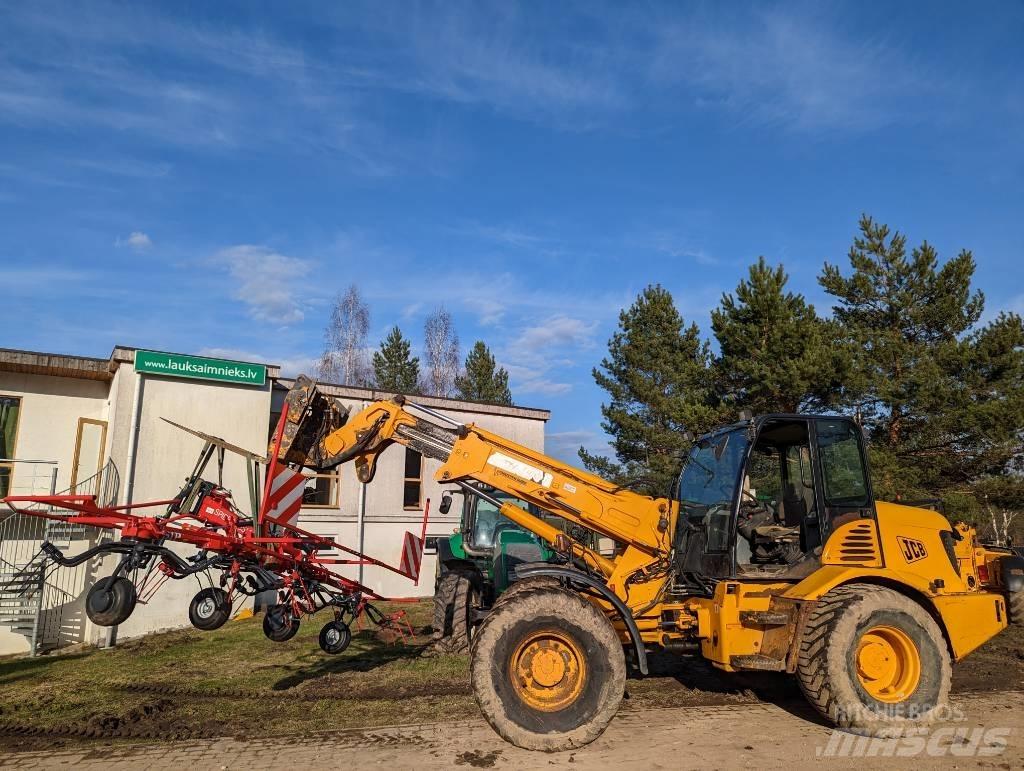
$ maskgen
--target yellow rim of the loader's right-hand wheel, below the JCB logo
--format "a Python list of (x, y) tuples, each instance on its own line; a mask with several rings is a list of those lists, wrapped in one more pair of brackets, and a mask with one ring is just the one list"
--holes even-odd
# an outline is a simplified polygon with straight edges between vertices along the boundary
[(857, 679), (879, 701), (905, 700), (921, 681), (921, 654), (913, 640), (896, 627), (872, 627), (857, 644)]

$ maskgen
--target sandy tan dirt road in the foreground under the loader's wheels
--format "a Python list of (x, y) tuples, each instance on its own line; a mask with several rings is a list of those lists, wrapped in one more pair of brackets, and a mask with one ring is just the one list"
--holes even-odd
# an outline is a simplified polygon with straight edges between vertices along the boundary
[(954, 698), (954, 720), (916, 738), (872, 740), (834, 731), (813, 714), (770, 703), (621, 713), (596, 741), (546, 755), (505, 743), (477, 715), (457, 721), (350, 729), (303, 737), (93, 744), (0, 755), (16, 768), (914, 769), (1024, 767), (1024, 694)]

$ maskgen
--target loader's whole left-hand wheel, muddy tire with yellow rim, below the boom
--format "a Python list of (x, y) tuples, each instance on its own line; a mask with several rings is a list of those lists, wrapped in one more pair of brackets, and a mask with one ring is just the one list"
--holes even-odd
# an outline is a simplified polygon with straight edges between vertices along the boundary
[[(546, 660), (537, 661), (539, 655)], [(470, 678), (502, 738), (555, 753), (583, 746), (607, 727), (626, 688), (626, 656), (595, 605), (566, 589), (535, 588), (495, 605), (484, 618)], [(524, 699), (528, 690), (532, 704)]]

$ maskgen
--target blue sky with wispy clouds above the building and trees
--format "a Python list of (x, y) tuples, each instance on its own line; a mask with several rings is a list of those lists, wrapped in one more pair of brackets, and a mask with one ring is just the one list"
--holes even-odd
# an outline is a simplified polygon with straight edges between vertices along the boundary
[(705, 330), (758, 255), (819, 310), (861, 212), (1024, 310), (1024, 5), (0, 2), (0, 345), (306, 370), (443, 304), (549, 449), (668, 287)]

